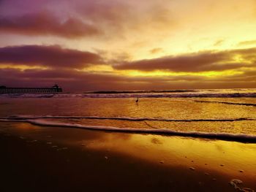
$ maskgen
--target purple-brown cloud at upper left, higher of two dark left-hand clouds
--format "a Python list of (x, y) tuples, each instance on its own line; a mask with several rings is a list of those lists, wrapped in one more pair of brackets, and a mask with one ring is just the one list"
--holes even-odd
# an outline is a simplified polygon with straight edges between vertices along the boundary
[(92, 24), (78, 18), (60, 20), (50, 12), (29, 13), (26, 15), (0, 16), (0, 31), (27, 35), (55, 35), (75, 38), (100, 34)]

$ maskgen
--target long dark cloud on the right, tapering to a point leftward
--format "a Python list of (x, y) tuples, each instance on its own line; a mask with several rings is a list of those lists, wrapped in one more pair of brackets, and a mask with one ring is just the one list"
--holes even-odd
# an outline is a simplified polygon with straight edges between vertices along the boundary
[(234, 57), (237, 55), (244, 58), (246, 61), (253, 62), (256, 60), (256, 48), (121, 62), (121, 64), (114, 67), (115, 69), (134, 69), (140, 71), (169, 70), (172, 72), (208, 72), (252, 66), (236, 61)]

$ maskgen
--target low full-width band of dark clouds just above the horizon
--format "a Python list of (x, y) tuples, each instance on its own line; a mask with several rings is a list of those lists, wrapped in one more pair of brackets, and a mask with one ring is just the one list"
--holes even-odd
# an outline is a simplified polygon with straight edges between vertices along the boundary
[[(256, 48), (167, 56), (151, 60), (111, 64), (96, 53), (64, 49), (60, 46), (23, 45), (0, 48), (0, 84), (8, 86), (64, 85), (66, 91), (233, 88), (253, 87), (256, 79)], [(239, 62), (240, 61), (240, 62)], [(244, 63), (246, 61), (246, 63)], [(8, 66), (5, 66), (9, 64)], [(88, 66), (113, 66), (113, 71), (91, 72)], [(15, 66), (27, 66), (17, 69)], [(33, 69), (43, 66), (47, 69)], [(30, 69), (31, 67), (31, 69)], [(21, 67), (22, 68), (22, 67)], [(83, 70), (79, 70), (83, 69)], [(239, 74), (208, 77), (204, 72), (233, 69)], [(153, 75), (129, 76), (124, 72), (152, 71)], [(154, 76), (154, 71), (174, 74)], [(187, 74), (179, 74), (187, 72)]]

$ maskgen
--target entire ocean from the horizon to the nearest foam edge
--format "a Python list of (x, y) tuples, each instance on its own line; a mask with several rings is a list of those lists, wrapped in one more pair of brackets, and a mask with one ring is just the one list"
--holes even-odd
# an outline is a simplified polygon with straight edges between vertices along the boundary
[(255, 98), (256, 89), (1, 94), (0, 121), (256, 142)]

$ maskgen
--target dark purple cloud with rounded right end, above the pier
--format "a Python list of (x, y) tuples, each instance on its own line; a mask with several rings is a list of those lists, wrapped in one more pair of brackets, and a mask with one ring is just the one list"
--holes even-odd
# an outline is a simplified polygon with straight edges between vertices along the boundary
[(64, 49), (57, 45), (0, 47), (0, 64), (83, 68), (89, 64), (97, 64), (99, 62), (101, 62), (101, 58), (95, 53)]

